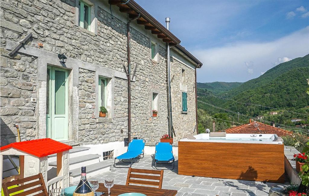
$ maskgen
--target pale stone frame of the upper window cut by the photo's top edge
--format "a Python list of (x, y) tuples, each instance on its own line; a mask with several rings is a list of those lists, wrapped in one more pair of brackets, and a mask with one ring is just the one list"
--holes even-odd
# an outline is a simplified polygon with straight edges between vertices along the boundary
[[(90, 21), (91, 24), (89, 25), (89, 29), (85, 29), (79, 26), (79, 9), (78, 3), (79, 1), (85, 2), (90, 7)], [(75, 26), (77, 26), (82, 31), (90, 31), (95, 35), (98, 35), (98, 6), (95, 4), (93, 0), (75, 0)]]

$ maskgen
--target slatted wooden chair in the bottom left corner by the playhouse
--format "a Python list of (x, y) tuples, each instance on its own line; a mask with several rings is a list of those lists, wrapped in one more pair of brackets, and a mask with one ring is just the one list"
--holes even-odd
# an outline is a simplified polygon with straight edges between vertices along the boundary
[[(34, 181), (34, 182), (30, 182), (30, 181)], [(30, 183), (25, 184), (26, 182), (30, 182)], [(13, 185), (20, 185), (20, 186), (8, 189), (8, 187), (13, 186)], [(37, 186), (37, 185), (40, 185), (40, 186), (33, 188), (34, 186)], [(21, 193), (15, 194), (16, 196), (25, 196), (25, 195), (30, 195), (36, 192), (40, 192), (40, 193), (35, 194), (34, 196), (48, 196), (45, 182), (44, 182), (44, 179), (41, 173), (34, 175), (34, 176), (27, 177), (27, 178), (21, 178), (18, 180), (14, 180), (11, 182), (3, 182), (2, 188), (3, 188), (3, 193), (5, 196), (10, 196), (11, 193), (15, 193), (20, 190), (24, 190), (24, 191)]]

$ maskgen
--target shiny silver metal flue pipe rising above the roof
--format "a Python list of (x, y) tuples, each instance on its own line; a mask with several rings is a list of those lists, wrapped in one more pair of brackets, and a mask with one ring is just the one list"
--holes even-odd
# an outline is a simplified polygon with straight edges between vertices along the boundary
[[(170, 28), (170, 21), (169, 17), (165, 18), (166, 28), (169, 30)], [(167, 72), (168, 72), (168, 104), (169, 104), (169, 134), (173, 138), (173, 118), (172, 118), (172, 98), (171, 98), (171, 59), (170, 59), (170, 45), (166, 43), (166, 50), (167, 50)]]

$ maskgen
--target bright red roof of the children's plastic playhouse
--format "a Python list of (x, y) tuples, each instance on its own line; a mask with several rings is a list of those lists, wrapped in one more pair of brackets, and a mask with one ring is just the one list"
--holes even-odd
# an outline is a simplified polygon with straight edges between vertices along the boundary
[(0, 151), (11, 147), (21, 150), (25, 153), (35, 155), (37, 157), (45, 157), (50, 154), (72, 149), (72, 146), (70, 145), (63, 144), (50, 138), (44, 138), (38, 140), (14, 142), (9, 145), (2, 146)]

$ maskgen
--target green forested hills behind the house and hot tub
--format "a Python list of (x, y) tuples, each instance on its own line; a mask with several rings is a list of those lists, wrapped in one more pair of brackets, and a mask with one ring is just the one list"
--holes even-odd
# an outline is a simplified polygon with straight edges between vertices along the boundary
[[(200, 84), (197, 86), (198, 108), (203, 116), (198, 116), (201, 122), (199, 126), (201, 129), (210, 128), (211, 123), (208, 121), (216, 120), (220, 129), (226, 129), (233, 124), (248, 123), (249, 118), (264, 116), (262, 122), (266, 124), (274, 121), (277, 126), (287, 130), (309, 129), (309, 126), (303, 129), (295, 127), (309, 124), (307, 78), (309, 78), (309, 55), (281, 63), (262, 76), (240, 85), (231, 84), (224, 87), (222, 84), (225, 83), (222, 82)], [(203, 85), (207, 85), (206, 88), (203, 88)], [(278, 114), (269, 115), (270, 111), (276, 111)], [(303, 121), (292, 123), (292, 118)]]

